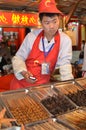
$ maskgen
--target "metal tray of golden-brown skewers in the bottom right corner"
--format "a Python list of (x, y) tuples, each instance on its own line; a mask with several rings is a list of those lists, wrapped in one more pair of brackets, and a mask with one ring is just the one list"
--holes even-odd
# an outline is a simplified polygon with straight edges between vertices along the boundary
[(65, 122), (75, 130), (86, 130), (86, 108), (68, 112), (57, 117), (59, 121)]

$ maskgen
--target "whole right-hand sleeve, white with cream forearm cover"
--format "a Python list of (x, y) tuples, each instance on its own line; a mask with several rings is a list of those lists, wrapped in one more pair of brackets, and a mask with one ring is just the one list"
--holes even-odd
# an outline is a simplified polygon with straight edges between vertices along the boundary
[(61, 80), (73, 79), (72, 74), (72, 41), (66, 34), (60, 34), (60, 51), (56, 68), (59, 68)]

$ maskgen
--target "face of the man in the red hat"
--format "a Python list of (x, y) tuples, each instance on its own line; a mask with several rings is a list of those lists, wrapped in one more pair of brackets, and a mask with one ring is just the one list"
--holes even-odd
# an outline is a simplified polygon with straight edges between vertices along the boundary
[(59, 16), (43, 16), (41, 24), (46, 34), (54, 35), (59, 27)]

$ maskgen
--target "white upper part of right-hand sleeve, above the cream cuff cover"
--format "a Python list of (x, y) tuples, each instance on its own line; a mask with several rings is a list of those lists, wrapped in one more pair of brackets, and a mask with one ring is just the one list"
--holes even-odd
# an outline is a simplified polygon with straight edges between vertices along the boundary
[(60, 51), (56, 66), (63, 66), (65, 64), (70, 64), (71, 60), (72, 60), (72, 41), (69, 36), (62, 33), (60, 34)]

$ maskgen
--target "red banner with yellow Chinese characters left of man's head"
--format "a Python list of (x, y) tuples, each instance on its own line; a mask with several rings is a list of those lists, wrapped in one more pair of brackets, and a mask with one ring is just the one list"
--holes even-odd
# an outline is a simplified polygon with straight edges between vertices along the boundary
[(38, 26), (37, 13), (0, 12), (0, 26)]

